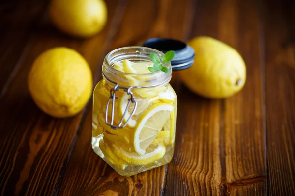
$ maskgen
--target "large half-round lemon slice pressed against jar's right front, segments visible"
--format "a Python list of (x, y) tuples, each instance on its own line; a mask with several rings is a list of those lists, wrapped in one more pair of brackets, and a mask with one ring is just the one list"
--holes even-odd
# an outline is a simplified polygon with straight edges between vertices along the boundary
[(146, 153), (146, 148), (156, 139), (173, 110), (171, 104), (156, 103), (141, 115), (134, 133), (134, 149), (138, 154)]

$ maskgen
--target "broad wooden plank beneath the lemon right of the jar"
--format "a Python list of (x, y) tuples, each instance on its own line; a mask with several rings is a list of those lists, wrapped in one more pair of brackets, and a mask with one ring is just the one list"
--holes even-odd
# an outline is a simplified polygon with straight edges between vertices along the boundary
[(219, 101), (186, 93), (179, 85), (178, 110), (185, 115), (177, 115), (177, 138), (183, 142), (176, 144), (179, 150), (168, 166), (166, 195), (240, 193), (250, 182), (247, 189), (265, 195), (258, 5), (254, 0), (204, 0), (196, 13), (191, 36), (208, 35), (237, 49), (247, 65), (247, 82), (239, 94)]

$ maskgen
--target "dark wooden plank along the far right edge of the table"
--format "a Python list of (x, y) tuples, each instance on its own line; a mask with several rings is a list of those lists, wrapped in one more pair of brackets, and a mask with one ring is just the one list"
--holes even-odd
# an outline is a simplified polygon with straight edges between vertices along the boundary
[(295, 193), (295, 2), (264, 1), (269, 195)]

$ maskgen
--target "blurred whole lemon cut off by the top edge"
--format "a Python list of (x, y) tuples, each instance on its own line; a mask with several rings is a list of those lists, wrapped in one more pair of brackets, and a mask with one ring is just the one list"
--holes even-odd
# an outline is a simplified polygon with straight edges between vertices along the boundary
[(49, 13), (59, 30), (77, 37), (92, 36), (107, 22), (103, 0), (52, 0)]

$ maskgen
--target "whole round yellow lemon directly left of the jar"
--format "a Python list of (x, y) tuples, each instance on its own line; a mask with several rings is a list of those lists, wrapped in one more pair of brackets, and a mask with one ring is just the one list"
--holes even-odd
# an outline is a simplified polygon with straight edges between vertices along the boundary
[(80, 112), (92, 92), (86, 60), (65, 47), (49, 49), (34, 61), (28, 76), (29, 93), (48, 115), (69, 117)]

